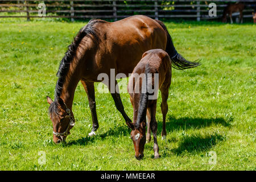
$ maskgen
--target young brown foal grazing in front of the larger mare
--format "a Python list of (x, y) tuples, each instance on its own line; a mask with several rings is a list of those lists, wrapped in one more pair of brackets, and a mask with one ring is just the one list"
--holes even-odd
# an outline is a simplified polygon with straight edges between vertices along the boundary
[[(150, 140), (150, 129), (154, 137), (155, 159), (159, 158), (159, 147), (156, 140), (158, 124), (155, 119), (156, 102), (155, 98), (149, 98), (152, 94), (158, 93), (158, 88), (162, 94), (161, 110), (163, 114), (162, 139), (166, 138), (166, 114), (168, 111), (167, 99), (168, 89), (171, 85), (172, 66), (168, 53), (162, 49), (152, 49), (143, 54), (141, 61), (134, 68), (129, 79), (128, 92), (131, 104), (133, 105), (133, 123), (126, 122), (131, 128), (131, 139), (134, 143), (135, 158), (143, 158), (143, 150), (146, 140)], [(158, 79), (155, 79), (158, 74)], [(149, 77), (149, 74), (151, 77)], [(146, 88), (143, 93), (143, 87)], [(148, 90), (154, 88), (154, 92)], [(136, 92), (137, 91), (137, 92)], [(146, 135), (146, 113), (147, 113), (147, 135)]]

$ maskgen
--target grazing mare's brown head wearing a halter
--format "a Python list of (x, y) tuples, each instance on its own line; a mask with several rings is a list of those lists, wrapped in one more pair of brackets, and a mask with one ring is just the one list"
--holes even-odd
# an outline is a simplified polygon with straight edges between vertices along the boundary
[(47, 96), (47, 102), (50, 105), (49, 115), (53, 125), (53, 142), (64, 142), (70, 134), (69, 130), (75, 125), (74, 115), (61, 98), (58, 98), (57, 101), (52, 101)]

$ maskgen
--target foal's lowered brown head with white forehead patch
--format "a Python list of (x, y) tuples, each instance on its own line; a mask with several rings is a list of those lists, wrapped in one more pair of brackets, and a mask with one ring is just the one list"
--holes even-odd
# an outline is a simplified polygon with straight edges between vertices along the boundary
[(131, 129), (131, 139), (133, 140), (135, 158), (141, 160), (144, 156), (144, 146), (146, 143), (146, 121), (141, 123), (126, 122)]

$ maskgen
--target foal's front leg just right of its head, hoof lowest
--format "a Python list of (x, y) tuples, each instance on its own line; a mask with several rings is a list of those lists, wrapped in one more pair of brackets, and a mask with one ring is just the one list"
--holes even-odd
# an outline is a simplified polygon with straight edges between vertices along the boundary
[(158, 131), (158, 123), (156, 122), (156, 119), (155, 119), (155, 113), (156, 113), (156, 101), (155, 101), (155, 104), (152, 104), (152, 106), (150, 107), (150, 116), (151, 116), (150, 127), (154, 137), (154, 147), (153, 147), (153, 150), (155, 152), (154, 156), (155, 156), (155, 159), (158, 159), (159, 147), (158, 147), (158, 140), (156, 139), (156, 133)]

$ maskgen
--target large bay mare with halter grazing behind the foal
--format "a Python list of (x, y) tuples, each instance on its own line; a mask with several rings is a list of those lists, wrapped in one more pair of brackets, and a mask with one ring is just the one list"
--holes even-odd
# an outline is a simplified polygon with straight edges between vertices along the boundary
[[(100, 19), (90, 20), (82, 27), (61, 60), (57, 72), (59, 78), (55, 88), (55, 100), (52, 101), (47, 96), (53, 124), (53, 141), (64, 141), (70, 134), (69, 130), (75, 125), (72, 103), (79, 81), (88, 96), (93, 122), (89, 135), (93, 135), (98, 129), (94, 82), (105, 81), (98, 80), (98, 75), (106, 73), (110, 77), (110, 69), (115, 69), (115, 75), (124, 73), (128, 76), (141, 60), (143, 53), (155, 48), (166, 50), (172, 58), (172, 66), (176, 69), (199, 65), (185, 60), (177, 53), (164, 24), (147, 16), (135, 15), (112, 23)], [(114, 82), (117, 84), (116, 80)], [(131, 122), (125, 113), (119, 93), (111, 94), (125, 121)]]

